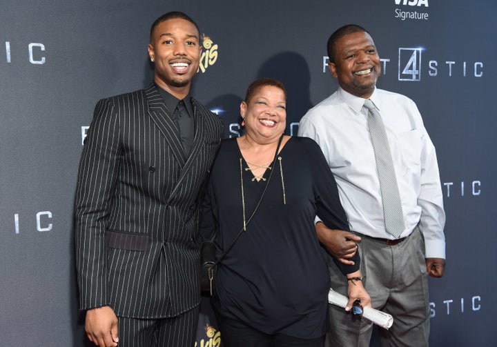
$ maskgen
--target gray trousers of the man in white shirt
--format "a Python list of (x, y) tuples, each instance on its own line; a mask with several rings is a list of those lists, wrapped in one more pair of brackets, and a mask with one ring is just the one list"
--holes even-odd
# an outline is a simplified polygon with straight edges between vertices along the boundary
[[(360, 235), (361, 275), (371, 306), (393, 316), (389, 330), (378, 328), (383, 347), (428, 346), (429, 297), (425, 241), (419, 228), (395, 246)], [(347, 280), (329, 263), (331, 288), (347, 295)], [(328, 347), (369, 347), (373, 324), (352, 320), (343, 308), (330, 305)]]

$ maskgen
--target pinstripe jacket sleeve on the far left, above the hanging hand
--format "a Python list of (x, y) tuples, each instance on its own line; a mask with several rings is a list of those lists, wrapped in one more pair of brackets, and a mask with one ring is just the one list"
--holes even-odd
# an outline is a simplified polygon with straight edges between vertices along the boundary
[(77, 179), (75, 255), (79, 309), (108, 305), (105, 230), (119, 170), (119, 118), (109, 99), (95, 107)]

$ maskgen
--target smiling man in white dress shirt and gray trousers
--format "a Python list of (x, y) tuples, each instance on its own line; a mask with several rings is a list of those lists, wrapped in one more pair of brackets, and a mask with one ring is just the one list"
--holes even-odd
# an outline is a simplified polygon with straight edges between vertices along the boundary
[[(382, 346), (427, 346), (427, 275), (442, 277), (445, 268), (445, 212), (435, 148), (416, 104), (376, 88), (380, 57), (364, 28), (348, 25), (336, 30), (329, 38), (328, 54), (329, 69), (340, 88), (306, 113), (298, 135), (320, 144), (355, 235), (327, 230), (320, 222), (316, 228), (327, 232), (326, 246), (342, 262), (349, 261), (356, 249), (360, 252), (363, 283), (373, 308), (394, 319), (390, 330), (380, 329)], [(364, 107), (367, 99), (387, 133), (404, 219), (400, 236), (385, 228)], [(339, 274), (330, 268), (331, 286), (347, 295), (347, 279)], [(369, 346), (371, 331), (367, 319), (352, 321), (342, 309), (330, 306), (327, 340), (333, 346)]]

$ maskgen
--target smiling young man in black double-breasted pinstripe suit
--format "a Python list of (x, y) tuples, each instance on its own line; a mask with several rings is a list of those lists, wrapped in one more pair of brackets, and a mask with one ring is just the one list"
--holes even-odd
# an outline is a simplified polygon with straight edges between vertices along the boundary
[(97, 103), (75, 201), (79, 308), (100, 347), (193, 346), (199, 195), (222, 121), (190, 95), (202, 51), (182, 12), (150, 30), (153, 83)]

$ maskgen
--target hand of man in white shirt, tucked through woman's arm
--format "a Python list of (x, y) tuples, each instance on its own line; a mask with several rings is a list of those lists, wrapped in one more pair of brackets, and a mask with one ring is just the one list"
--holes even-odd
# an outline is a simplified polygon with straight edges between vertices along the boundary
[(315, 225), (318, 239), (324, 247), (330, 252), (333, 257), (338, 259), (340, 263), (353, 265), (354, 262), (349, 260), (358, 249), (356, 242), (360, 241), (360, 237), (352, 232), (330, 229), (321, 221)]

